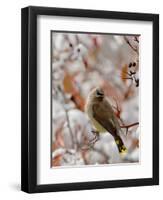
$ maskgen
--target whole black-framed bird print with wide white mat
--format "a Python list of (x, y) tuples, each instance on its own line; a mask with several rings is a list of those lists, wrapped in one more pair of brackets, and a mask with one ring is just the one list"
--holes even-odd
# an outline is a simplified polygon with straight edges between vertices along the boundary
[(159, 16), (22, 9), (21, 185), (159, 184)]

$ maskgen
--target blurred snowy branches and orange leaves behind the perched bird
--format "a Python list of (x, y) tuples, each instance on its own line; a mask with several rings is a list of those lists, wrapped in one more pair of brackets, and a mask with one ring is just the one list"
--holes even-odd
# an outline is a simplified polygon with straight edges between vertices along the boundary
[[(139, 39), (52, 32), (52, 167), (139, 161)], [(84, 106), (97, 86), (123, 126), (125, 156), (108, 132), (90, 145), (94, 135)]]

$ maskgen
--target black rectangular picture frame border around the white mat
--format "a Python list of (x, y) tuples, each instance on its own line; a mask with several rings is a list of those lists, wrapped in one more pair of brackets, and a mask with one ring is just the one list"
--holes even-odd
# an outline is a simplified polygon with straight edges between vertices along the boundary
[[(151, 21), (153, 23), (153, 177), (37, 184), (37, 16)], [(159, 184), (159, 15), (30, 6), (21, 11), (21, 190), (28, 193)]]

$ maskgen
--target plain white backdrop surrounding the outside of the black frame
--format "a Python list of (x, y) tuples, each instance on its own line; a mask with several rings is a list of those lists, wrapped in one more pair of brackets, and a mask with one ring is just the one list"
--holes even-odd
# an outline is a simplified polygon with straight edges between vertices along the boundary
[[(5, 0), (1, 2), (0, 11), (0, 198), (1, 199), (138, 199), (158, 198), (163, 195), (163, 186), (155, 187), (138, 187), (138, 188), (119, 188), (91, 191), (75, 191), (60, 193), (45, 193), (28, 195), (20, 190), (20, 89), (21, 89), (21, 68), (20, 68), (20, 9), (28, 5), (53, 6), (67, 8), (85, 8), (85, 9), (103, 9), (113, 11), (129, 11), (129, 12), (147, 12), (162, 14), (162, 1), (146, 1), (146, 0), (123, 0), (123, 1), (76, 1), (76, 0), (28, 0), (14, 1)], [(163, 17), (160, 16), (160, 35), (163, 33), (162, 24)], [(162, 38), (160, 44), (163, 44)], [(161, 49), (160, 49), (161, 50)], [(160, 51), (161, 55), (161, 51)], [(161, 56), (160, 56), (161, 57)], [(161, 66), (161, 63), (160, 63)], [(160, 67), (160, 74), (162, 69)], [(160, 80), (160, 86), (163, 86), (163, 79)], [(163, 101), (163, 93), (160, 94), (160, 102)], [(160, 106), (160, 111), (162, 106)], [(163, 116), (161, 115), (160, 121)], [(161, 124), (161, 123), (160, 123)], [(160, 129), (160, 141), (162, 140)], [(163, 146), (160, 145), (160, 153)], [(161, 157), (160, 157), (161, 158)], [(163, 158), (160, 160), (160, 168), (163, 165)], [(162, 183), (162, 173), (160, 173), (160, 183)]]

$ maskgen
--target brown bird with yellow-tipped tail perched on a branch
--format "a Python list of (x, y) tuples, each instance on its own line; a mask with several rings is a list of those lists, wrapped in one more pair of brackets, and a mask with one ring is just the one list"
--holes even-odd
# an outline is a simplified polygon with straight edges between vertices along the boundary
[(126, 152), (127, 149), (120, 136), (122, 133), (120, 124), (102, 88), (97, 87), (89, 93), (85, 110), (95, 128), (93, 132), (96, 134), (109, 132), (114, 137), (119, 153)]

